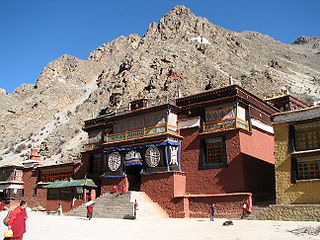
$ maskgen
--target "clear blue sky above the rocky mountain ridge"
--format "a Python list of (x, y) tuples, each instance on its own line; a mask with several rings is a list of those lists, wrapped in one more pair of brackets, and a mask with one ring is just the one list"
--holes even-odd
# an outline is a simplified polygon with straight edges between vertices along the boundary
[(63, 54), (86, 59), (120, 35), (143, 35), (178, 4), (213, 24), (284, 43), (320, 37), (320, 0), (0, 0), (0, 88), (35, 83)]

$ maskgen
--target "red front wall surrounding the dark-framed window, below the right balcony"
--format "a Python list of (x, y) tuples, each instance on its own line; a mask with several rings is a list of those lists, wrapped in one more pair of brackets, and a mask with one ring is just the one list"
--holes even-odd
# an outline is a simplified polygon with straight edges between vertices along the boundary
[(198, 128), (182, 129), (182, 171), (187, 177), (186, 192), (191, 194), (210, 194), (244, 191), (244, 175), (238, 131), (224, 133), (228, 156), (228, 167), (199, 170), (200, 141)]

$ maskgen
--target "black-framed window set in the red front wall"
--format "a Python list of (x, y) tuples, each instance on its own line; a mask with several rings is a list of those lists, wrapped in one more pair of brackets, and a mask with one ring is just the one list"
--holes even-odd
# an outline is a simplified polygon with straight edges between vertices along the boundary
[(223, 168), (227, 166), (226, 144), (222, 137), (205, 139), (201, 147), (201, 167)]

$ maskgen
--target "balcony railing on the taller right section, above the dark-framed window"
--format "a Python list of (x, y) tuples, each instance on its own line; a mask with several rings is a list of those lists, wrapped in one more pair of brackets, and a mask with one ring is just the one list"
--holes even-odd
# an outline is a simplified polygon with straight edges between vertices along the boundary
[(249, 130), (249, 123), (248, 121), (244, 121), (239, 118), (229, 118), (229, 119), (223, 119), (220, 121), (203, 123), (204, 132), (221, 131), (221, 130), (226, 130), (231, 128), (242, 128), (245, 130)]

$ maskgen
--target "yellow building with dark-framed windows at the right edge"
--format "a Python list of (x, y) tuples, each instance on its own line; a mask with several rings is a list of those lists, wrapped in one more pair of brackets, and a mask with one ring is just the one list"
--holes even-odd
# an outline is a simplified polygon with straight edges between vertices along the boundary
[(320, 106), (273, 115), (277, 204), (320, 203)]

